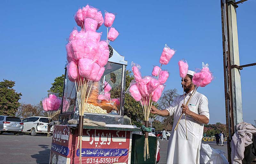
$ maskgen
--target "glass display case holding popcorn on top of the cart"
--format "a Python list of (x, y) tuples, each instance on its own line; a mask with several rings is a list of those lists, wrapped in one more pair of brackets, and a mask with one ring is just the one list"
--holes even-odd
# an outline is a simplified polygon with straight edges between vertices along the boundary
[[(84, 118), (103, 121), (106, 124), (123, 124), (124, 92), (127, 61), (109, 45), (109, 59), (105, 72), (99, 82), (92, 83)], [(65, 67), (66, 70), (66, 67)], [(78, 93), (79, 94), (79, 93)], [(76, 100), (76, 86), (70, 82), (65, 71), (60, 122), (66, 124), (69, 119), (79, 119), (79, 107)]]

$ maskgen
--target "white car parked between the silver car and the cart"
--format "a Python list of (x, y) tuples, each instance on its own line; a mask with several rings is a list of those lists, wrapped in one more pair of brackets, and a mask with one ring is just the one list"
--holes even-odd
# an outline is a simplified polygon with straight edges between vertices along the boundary
[[(50, 119), (52, 121), (52, 119)], [(30, 133), (31, 136), (36, 136), (37, 133), (47, 133), (48, 130), (48, 117), (34, 116), (22, 120), (23, 132)], [(52, 127), (51, 127), (52, 132)]]

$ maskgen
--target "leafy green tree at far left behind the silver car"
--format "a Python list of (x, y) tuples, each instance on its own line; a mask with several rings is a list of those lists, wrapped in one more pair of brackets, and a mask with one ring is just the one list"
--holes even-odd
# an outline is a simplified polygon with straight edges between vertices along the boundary
[(15, 82), (4, 79), (0, 82), (0, 115), (15, 116), (18, 107), (20, 106), (19, 100), (22, 96), (17, 93), (13, 87)]

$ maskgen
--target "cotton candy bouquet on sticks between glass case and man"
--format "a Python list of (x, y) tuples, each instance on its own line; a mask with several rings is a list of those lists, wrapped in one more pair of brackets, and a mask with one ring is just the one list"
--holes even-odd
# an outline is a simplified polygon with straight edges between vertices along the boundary
[[(169, 72), (167, 70), (162, 70), (162, 65), (169, 63), (170, 59), (174, 55), (175, 51), (170, 49), (165, 45), (162, 55), (160, 57), (159, 63), (161, 66), (154, 66), (152, 70), (152, 76), (141, 76), (141, 66), (139, 64), (132, 62), (132, 73), (134, 80), (130, 83), (129, 88), (126, 93), (129, 93), (135, 101), (140, 102), (142, 110), (144, 113), (145, 126), (148, 127), (148, 120), (150, 109), (153, 102), (157, 102), (162, 95), (165, 87), (165, 82), (169, 77)], [(145, 132), (145, 142), (144, 142), (144, 160), (149, 158), (149, 148), (148, 148), (148, 132)]]

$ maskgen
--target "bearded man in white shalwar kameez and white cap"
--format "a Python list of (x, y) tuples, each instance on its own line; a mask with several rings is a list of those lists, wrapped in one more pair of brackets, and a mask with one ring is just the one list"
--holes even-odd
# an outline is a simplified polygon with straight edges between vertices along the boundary
[[(195, 88), (195, 85), (192, 83), (193, 75), (194, 72), (189, 70), (187, 76), (181, 82), (186, 92), (185, 104)], [(169, 116), (174, 113), (172, 133), (167, 150), (167, 163), (199, 164), (204, 124), (207, 124), (210, 118), (208, 99), (203, 94), (195, 92), (188, 105), (184, 105), (183, 103), (183, 95), (180, 95), (175, 98), (172, 104), (165, 110), (158, 110), (155, 106), (152, 106), (151, 113), (160, 116)], [(187, 118), (188, 140), (186, 139), (184, 113)], [(174, 130), (181, 114), (183, 114), (183, 116), (181, 117), (177, 130)]]

